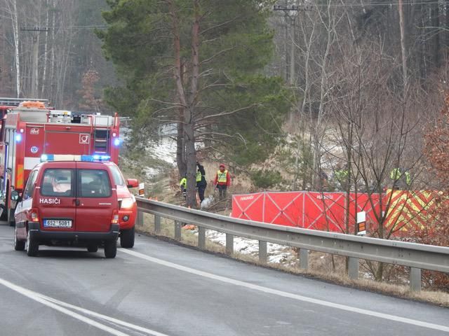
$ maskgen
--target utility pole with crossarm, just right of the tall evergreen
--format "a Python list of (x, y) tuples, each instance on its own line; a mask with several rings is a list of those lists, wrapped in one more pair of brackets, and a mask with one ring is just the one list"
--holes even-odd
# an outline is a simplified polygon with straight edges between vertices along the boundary
[[(286, 29), (285, 29), (285, 34), (286, 34), (286, 80), (288, 80), (290, 85), (293, 86), (294, 80), (295, 80), (295, 22), (296, 22), (297, 12), (299, 12), (300, 10), (308, 10), (308, 9), (307, 9), (307, 7), (297, 6), (297, 5), (292, 5), (292, 6), (274, 5), (273, 10), (282, 11), (283, 12), (282, 16), (285, 18), (284, 20), (286, 22)], [(291, 29), (291, 34), (290, 34), (290, 40), (291, 40), (290, 55), (288, 55), (288, 50), (287, 50), (287, 39), (288, 39), (287, 19), (290, 19), (290, 22), (289, 22), (290, 26), (293, 27), (293, 29)], [(288, 61), (290, 61), (290, 62), (288, 62)]]

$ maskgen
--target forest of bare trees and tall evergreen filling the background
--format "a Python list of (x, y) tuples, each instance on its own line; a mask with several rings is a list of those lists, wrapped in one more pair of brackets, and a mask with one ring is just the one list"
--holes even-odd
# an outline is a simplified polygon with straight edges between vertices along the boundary
[[(134, 158), (173, 127), (192, 206), (204, 159), (246, 174), (248, 191), (381, 195), (399, 188), (400, 168), (406, 188), (445, 192), (448, 10), (445, 0), (0, 0), (0, 95), (129, 116)], [(447, 246), (448, 214), (438, 207), (432, 235), (415, 240)], [(375, 235), (390, 238), (401, 228), (384, 219)]]

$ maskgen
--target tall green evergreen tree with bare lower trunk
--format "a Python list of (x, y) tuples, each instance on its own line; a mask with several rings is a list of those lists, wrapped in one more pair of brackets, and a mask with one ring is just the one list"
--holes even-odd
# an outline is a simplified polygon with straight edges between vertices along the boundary
[(268, 158), (290, 102), (272, 57), (271, 1), (109, 0), (99, 31), (125, 85), (110, 104), (142, 128), (177, 123), (177, 165), (195, 200), (196, 148), (249, 165)]

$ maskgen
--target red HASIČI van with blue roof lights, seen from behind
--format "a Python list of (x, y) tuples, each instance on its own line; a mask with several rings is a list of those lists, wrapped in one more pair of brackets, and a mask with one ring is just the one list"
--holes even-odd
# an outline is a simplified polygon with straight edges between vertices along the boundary
[(15, 250), (26, 248), (29, 256), (35, 256), (39, 245), (84, 246), (89, 252), (104, 246), (105, 257), (115, 257), (118, 167), (112, 162), (93, 162), (90, 155), (82, 155), (81, 160), (36, 165), (22, 195), (13, 190), (11, 197), (18, 201)]

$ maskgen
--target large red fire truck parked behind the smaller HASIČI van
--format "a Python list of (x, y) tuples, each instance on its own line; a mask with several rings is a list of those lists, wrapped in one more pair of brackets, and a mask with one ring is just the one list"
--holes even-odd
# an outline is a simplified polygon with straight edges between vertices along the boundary
[(11, 191), (22, 192), (41, 155), (93, 155), (118, 163), (119, 123), (117, 115), (54, 110), (36, 100), (7, 109), (0, 123), (0, 219), (13, 225)]

